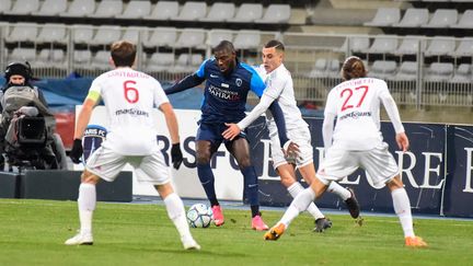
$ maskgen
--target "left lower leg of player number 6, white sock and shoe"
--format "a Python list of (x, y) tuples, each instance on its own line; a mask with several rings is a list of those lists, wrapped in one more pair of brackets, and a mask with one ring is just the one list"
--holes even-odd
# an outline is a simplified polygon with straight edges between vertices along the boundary
[(96, 190), (95, 185), (99, 182), (99, 176), (84, 170), (81, 176), (81, 184), (79, 186), (79, 221), (80, 230), (77, 235), (68, 239), (66, 245), (92, 245), (92, 218), (96, 205)]

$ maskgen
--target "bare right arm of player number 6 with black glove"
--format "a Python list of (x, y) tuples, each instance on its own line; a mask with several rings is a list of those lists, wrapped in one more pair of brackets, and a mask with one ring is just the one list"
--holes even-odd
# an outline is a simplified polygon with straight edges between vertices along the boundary
[(174, 113), (174, 109), (170, 103), (163, 103), (160, 105), (160, 109), (164, 114), (164, 118), (166, 120), (168, 130), (171, 136), (171, 161), (173, 163), (174, 169), (178, 169), (183, 161), (183, 155), (181, 151), (181, 141), (178, 135), (178, 124), (177, 118)]

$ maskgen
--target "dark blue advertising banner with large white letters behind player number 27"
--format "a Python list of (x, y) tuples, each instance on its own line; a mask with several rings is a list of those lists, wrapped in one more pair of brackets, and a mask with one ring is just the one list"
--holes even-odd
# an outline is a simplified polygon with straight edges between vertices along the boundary
[[(312, 146), (314, 149), (314, 163), (318, 167), (323, 158), (322, 119), (305, 118), (312, 132)], [(390, 151), (399, 162), (402, 180), (411, 199), (413, 212), (436, 213), (440, 212), (441, 192), (445, 183), (445, 125), (435, 124), (404, 124), (411, 140), (409, 151), (402, 153), (395, 142), (394, 129), (391, 123), (382, 123), (381, 130), (384, 141), (389, 143)], [(291, 201), (287, 189), (280, 184), (277, 174), (269, 161), (269, 141), (264, 128), (264, 120), (258, 120), (251, 128), (250, 142), (252, 143), (252, 157), (259, 177), (259, 198), (262, 205), (287, 206)], [(257, 141), (259, 140), (261, 141)], [(266, 147), (267, 146), (267, 147)], [(261, 162), (261, 163), (259, 163)], [(265, 172), (266, 171), (266, 172)], [(300, 176), (299, 176), (300, 178)], [(304, 186), (305, 183), (302, 182)], [(364, 170), (358, 170), (341, 182), (343, 186), (353, 187), (360, 207), (364, 211), (392, 212), (392, 198), (389, 189), (374, 188), (367, 178)], [(322, 208), (345, 208), (344, 203), (335, 195), (325, 193), (316, 201)]]

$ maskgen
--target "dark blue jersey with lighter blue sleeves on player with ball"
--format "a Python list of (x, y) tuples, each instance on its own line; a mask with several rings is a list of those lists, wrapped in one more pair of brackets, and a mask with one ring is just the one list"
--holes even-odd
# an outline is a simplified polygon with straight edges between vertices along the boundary
[(205, 60), (196, 74), (207, 80), (200, 107), (201, 123), (240, 122), (245, 117), (250, 90), (261, 97), (266, 88), (252, 67), (239, 61), (228, 77), (220, 72), (215, 58)]

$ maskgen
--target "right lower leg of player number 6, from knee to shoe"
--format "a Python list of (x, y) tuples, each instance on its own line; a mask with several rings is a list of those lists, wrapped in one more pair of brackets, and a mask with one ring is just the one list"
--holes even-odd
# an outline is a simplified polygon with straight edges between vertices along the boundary
[(180, 196), (174, 193), (171, 183), (165, 183), (155, 186), (159, 195), (164, 201), (168, 216), (174, 223), (181, 236), (181, 241), (185, 250), (200, 250), (200, 245), (194, 240), (185, 216), (184, 204)]

